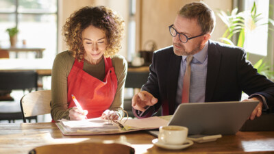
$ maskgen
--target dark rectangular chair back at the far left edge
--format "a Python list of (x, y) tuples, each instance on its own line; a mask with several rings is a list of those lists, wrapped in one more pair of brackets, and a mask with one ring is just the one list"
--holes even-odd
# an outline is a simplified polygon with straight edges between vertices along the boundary
[(0, 72), (0, 90), (37, 90), (38, 74), (34, 70)]

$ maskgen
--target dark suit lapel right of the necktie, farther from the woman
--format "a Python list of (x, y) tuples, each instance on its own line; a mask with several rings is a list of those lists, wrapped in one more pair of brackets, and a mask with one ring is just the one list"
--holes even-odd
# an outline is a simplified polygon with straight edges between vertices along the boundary
[(208, 71), (206, 77), (206, 96), (205, 102), (212, 101), (214, 88), (219, 75), (221, 66), (221, 53), (216, 49), (214, 42), (208, 41)]

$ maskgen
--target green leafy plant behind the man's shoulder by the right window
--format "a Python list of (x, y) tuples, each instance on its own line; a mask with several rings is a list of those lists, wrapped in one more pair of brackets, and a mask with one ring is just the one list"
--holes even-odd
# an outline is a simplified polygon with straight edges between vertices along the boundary
[[(227, 26), (227, 30), (223, 34), (221, 40), (227, 44), (233, 44), (232, 36), (238, 34), (237, 46), (243, 47), (245, 42), (245, 29), (249, 29), (252, 31), (256, 27), (261, 25), (270, 24), (274, 25), (274, 21), (271, 18), (268, 18), (268, 23), (258, 22), (262, 20), (262, 14), (258, 14), (256, 3), (253, 3), (253, 7), (248, 11), (238, 12), (238, 8), (232, 10), (232, 12), (225, 13), (222, 10), (219, 10), (218, 16), (221, 18), (223, 23)], [(273, 30), (273, 29), (269, 29)], [(249, 53), (247, 53), (247, 59), (249, 57)], [(258, 73), (265, 75), (269, 79), (274, 79), (274, 72), (271, 70), (271, 66), (264, 62), (264, 58), (260, 59), (254, 67), (257, 68)]]

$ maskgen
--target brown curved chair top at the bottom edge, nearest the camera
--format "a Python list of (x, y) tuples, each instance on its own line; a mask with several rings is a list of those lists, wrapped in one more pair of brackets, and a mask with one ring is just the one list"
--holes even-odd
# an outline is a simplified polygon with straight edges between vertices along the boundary
[(39, 146), (29, 154), (134, 154), (135, 150), (129, 145), (119, 143), (82, 142), (76, 144), (51, 144)]

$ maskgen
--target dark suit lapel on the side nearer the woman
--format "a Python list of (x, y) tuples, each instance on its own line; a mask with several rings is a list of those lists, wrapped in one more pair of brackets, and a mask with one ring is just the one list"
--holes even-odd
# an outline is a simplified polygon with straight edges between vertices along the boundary
[(167, 99), (169, 101), (169, 114), (175, 112), (175, 99), (181, 60), (182, 56), (175, 55), (175, 53), (171, 54), (169, 61), (169, 72), (167, 74)]

